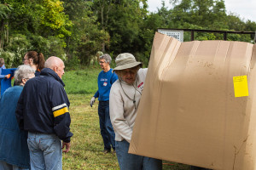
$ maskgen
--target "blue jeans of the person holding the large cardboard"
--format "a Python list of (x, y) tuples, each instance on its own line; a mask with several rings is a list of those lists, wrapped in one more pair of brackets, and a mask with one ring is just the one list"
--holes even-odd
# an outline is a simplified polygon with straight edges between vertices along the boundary
[(115, 141), (116, 156), (119, 161), (120, 170), (160, 170), (162, 169), (162, 161), (146, 156), (137, 156), (129, 154), (130, 144), (123, 140)]

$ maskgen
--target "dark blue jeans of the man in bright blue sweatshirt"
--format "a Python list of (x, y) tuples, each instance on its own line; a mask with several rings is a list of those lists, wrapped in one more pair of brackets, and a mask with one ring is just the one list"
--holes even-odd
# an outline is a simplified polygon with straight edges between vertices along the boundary
[(115, 150), (115, 135), (109, 116), (109, 101), (99, 101), (98, 114), (100, 119), (100, 128), (104, 143), (104, 150), (111, 150), (111, 145), (113, 150)]

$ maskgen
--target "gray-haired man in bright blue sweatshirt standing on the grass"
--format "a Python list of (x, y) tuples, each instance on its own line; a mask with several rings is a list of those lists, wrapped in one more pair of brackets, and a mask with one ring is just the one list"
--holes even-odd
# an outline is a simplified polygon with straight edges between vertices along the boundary
[(95, 99), (99, 99), (98, 114), (100, 119), (100, 128), (102, 139), (104, 143), (104, 153), (111, 151), (111, 145), (113, 153), (115, 153), (115, 135), (113, 132), (113, 126), (109, 116), (109, 93), (113, 82), (118, 79), (118, 76), (113, 73), (113, 69), (110, 68), (111, 57), (109, 54), (103, 54), (100, 56), (99, 64), (102, 67), (102, 71), (98, 76), (98, 90), (96, 94), (90, 99), (90, 106), (95, 102)]

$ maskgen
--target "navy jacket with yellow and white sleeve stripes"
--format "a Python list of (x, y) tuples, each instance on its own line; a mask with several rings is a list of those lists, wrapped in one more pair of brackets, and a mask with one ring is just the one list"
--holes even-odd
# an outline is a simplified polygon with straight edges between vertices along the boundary
[(16, 118), (20, 129), (31, 133), (55, 133), (70, 142), (70, 105), (65, 84), (55, 71), (44, 68), (40, 76), (28, 80), (20, 94)]

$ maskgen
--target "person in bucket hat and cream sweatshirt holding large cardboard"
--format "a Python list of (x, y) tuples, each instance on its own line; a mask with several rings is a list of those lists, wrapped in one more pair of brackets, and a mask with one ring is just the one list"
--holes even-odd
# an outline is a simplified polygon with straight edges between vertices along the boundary
[(121, 170), (162, 169), (162, 161), (146, 156), (128, 153), (132, 128), (137, 116), (137, 108), (143, 92), (148, 69), (141, 69), (132, 54), (119, 54), (113, 71), (119, 80), (113, 83), (109, 96), (109, 113), (115, 133), (116, 156)]

